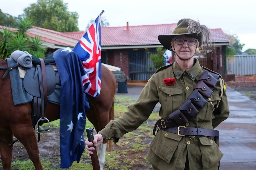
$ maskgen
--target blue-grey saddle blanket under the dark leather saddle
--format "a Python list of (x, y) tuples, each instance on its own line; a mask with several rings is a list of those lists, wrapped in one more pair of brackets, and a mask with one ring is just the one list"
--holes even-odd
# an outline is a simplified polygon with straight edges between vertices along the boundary
[[(12, 67), (17, 62), (14, 59), (7, 58), (8, 67)], [(29, 103), (33, 100), (33, 96), (26, 92), (23, 87), (23, 79), (20, 78), (18, 68), (9, 72), (12, 88), (12, 99), (14, 105)], [(47, 96), (48, 102), (60, 104), (61, 86), (56, 85), (52, 94)]]

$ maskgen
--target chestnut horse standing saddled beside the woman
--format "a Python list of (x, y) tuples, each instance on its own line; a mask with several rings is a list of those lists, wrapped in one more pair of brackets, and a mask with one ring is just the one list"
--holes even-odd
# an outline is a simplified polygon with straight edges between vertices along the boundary
[[(0, 60), (0, 67), (7, 67), (7, 61)], [(43, 170), (39, 159), (37, 137), (31, 121), (31, 105), (30, 103), (13, 104), (10, 76), (7, 74), (4, 79), (2, 78), (5, 72), (5, 69), (0, 70), (0, 151), (3, 169), (11, 170), (14, 135), (26, 148), (35, 169)], [(97, 132), (103, 129), (110, 120), (114, 119), (115, 90), (115, 76), (102, 64), (101, 93), (97, 98), (89, 98), (90, 109), (86, 113), (86, 117), (94, 125)], [(59, 119), (60, 106), (47, 102), (45, 117), (49, 121)], [(104, 148), (106, 149), (106, 147)], [(98, 154), (100, 155), (99, 151)], [(105, 152), (101, 157), (99, 161), (101, 162), (101, 159), (103, 159), (101, 162), (102, 169), (105, 164)]]

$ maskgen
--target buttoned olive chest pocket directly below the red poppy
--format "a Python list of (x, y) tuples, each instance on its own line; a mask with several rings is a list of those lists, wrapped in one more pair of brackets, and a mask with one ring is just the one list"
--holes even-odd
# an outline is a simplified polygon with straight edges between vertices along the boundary
[(176, 111), (181, 106), (182, 88), (177, 87), (159, 87), (159, 102), (162, 105), (163, 116), (168, 118), (168, 115)]

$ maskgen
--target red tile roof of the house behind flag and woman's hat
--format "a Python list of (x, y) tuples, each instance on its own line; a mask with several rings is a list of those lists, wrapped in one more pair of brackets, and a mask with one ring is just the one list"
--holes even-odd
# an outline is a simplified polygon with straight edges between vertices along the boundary
[[(140, 25), (124, 27), (102, 27), (102, 46), (159, 45), (158, 35), (170, 35), (177, 24)], [(227, 35), (220, 29), (211, 29), (214, 42), (229, 42)], [(82, 32), (63, 33), (79, 40)]]

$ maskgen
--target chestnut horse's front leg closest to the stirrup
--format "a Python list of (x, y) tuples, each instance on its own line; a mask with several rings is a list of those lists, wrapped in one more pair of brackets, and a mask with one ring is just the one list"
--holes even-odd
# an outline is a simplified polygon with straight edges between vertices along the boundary
[(37, 138), (31, 121), (31, 106), (29, 103), (16, 108), (20, 115), (20, 120), (14, 120), (10, 124), (13, 135), (24, 145), (29, 158), (34, 163), (36, 170), (43, 170), (40, 159)]

